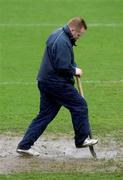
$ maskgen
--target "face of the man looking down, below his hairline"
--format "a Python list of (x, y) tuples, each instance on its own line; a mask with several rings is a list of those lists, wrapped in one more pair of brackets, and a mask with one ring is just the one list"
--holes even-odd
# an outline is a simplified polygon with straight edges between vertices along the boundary
[(82, 27), (80, 30), (71, 29), (71, 33), (75, 40), (78, 40), (82, 36), (82, 34), (84, 34), (85, 31), (86, 30), (84, 29), (84, 27)]

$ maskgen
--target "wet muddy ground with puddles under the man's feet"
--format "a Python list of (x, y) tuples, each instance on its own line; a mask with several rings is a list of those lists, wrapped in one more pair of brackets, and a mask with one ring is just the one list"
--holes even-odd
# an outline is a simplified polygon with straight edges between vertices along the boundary
[(123, 146), (115, 139), (105, 138), (95, 145), (97, 159), (89, 148), (76, 149), (69, 136), (43, 136), (33, 147), (39, 157), (16, 153), (21, 137), (0, 135), (0, 174), (16, 172), (114, 172), (123, 170)]

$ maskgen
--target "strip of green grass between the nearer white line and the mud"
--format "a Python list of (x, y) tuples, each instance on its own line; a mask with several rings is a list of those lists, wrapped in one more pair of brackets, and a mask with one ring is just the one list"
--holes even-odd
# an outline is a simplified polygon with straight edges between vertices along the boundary
[[(23, 132), (31, 119), (38, 112), (39, 94), (36, 85), (9, 85), (2, 86), (0, 100), (1, 109), (0, 131)], [(104, 135), (110, 131), (117, 134), (122, 131), (122, 89), (123, 85), (117, 84), (86, 84), (90, 119), (95, 134)], [(30, 98), (31, 97), (31, 98)], [(4, 120), (2, 120), (4, 118)], [(65, 127), (63, 129), (63, 126)], [(101, 129), (102, 131), (99, 131)], [(72, 133), (71, 117), (65, 108), (62, 108), (56, 119), (50, 124), (48, 132)]]

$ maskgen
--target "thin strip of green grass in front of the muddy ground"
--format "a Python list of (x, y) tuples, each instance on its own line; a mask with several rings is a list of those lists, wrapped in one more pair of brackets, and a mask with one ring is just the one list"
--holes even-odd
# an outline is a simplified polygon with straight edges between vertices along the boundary
[(122, 173), (113, 173), (113, 174), (80, 174), (80, 173), (71, 173), (71, 174), (56, 174), (56, 173), (33, 173), (33, 174), (16, 174), (16, 175), (7, 175), (0, 176), (0, 180), (122, 180)]

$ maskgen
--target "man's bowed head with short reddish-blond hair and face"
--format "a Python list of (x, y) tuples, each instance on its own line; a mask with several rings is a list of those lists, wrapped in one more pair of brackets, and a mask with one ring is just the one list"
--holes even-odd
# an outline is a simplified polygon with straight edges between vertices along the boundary
[(75, 40), (78, 40), (82, 36), (82, 34), (87, 30), (86, 22), (81, 17), (75, 17), (70, 19), (67, 25)]

